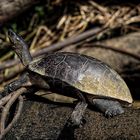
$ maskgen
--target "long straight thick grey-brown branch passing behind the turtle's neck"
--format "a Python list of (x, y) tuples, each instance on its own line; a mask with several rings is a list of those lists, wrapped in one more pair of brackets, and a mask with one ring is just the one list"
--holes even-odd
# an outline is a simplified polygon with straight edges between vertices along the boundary
[[(43, 54), (48, 53), (48, 52), (57, 51), (57, 50), (62, 49), (63, 47), (67, 47), (69, 45), (79, 43), (79, 42), (86, 40), (90, 37), (92, 37), (92, 38), (93, 38), (93, 36), (96, 37), (98, 34), (102, 33), (105, 30), (107, 30), (107, 28), (104, 28), (104, 27), (101, 29), (94, 28), (94, 29), (88, 30), (84, 33), (81, 33), (78, 36), (68, 38), (62, 42), (58, 42), (56, 44), (53, 44), (49, 47), (46, 47), (44, 49), (41, 49), (41, 50), (34, 52), (34, 53), (31, 53), (31, 54), (33, 57), (37, 57), (39, 55), (43, 55)], [(4, 70), (6, 68), (12, 67), (12, 66), (18, 64), (19, 62), (20, 62), (19, 60), (8, 60), (8, 61), (0, 64), (0, 70)]]

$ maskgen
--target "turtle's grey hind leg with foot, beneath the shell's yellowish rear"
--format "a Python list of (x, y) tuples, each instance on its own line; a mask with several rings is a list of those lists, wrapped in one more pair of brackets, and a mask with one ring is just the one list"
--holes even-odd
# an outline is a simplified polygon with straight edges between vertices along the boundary
[(124, 113), (124, 109), (121, 107), (118, 101), (112, 101), (108, 99), (93, 99), (93, 105), (104, 113), (105, 117), (110, 118)]

